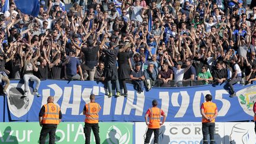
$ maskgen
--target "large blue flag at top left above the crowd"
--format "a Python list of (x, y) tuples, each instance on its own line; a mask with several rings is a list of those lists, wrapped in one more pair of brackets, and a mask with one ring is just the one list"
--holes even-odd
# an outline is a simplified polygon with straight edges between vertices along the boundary
[(39, 0), (14, 0), (17, 9), (20, 9), (23, 14), (37, 17), (39, 14)]

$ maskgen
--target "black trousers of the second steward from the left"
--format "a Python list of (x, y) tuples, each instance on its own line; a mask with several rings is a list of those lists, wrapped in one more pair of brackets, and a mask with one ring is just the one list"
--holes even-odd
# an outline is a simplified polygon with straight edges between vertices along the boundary
[(85, 123), (84, 127), (84, 133), (85, 133), (85, 144), (90, 143), (91, 139), (91, 130), (94, 133), (94, 137), (96, 140), (96, 144), (100, 144), (100, 127), (98, 126), (98, 123)]

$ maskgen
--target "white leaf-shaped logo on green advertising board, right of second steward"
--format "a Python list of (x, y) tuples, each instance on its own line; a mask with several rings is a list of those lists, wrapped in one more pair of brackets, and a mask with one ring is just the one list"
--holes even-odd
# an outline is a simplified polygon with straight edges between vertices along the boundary
[(119, 129), (117, 126), (111, 126), (107, 130), (107, 142), (108, 144), (128, 144), (130, 141), (130, 132), (127, 127), (122, 126), (123, 129)]

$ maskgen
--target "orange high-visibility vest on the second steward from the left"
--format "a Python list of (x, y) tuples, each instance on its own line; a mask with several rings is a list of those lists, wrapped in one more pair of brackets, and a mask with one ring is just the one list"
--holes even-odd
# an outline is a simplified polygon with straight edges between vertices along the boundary
[(101, 110), (100, 104), (89, 103), (85, 104), (85, 123), (98, 123), (98, 113)]

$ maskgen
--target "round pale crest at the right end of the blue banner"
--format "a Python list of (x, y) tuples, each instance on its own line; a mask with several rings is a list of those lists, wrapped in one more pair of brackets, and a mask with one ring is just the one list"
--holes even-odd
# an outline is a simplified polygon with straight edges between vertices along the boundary
[(245, 111), (245, 113), (251, 116), (254, 116), (252, 108), (256, 100), (255, 88), (256, 85), (241, 89), (240, 91), (236, 92), (236, 95), (238, 95), (239, 104), (241, 105), (242, 109)]

